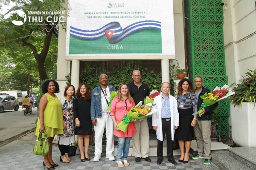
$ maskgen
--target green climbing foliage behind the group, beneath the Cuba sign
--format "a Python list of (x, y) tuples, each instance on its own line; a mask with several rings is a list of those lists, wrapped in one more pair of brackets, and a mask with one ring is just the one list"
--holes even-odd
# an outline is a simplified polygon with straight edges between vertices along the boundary
[[(102, 62), (95, 62), (85, 61), (83, 62), (83, 70), (80, 73), (80, 82), (84, 82), (88, 85), (90, 90), (99, 86), (99, 76), (102, 73), (108, 75), (109, 85), (113, 85), (116, 89), (119, 88), (120, 83), (125, 82), (129, 83), (132, 81), (131, 74), (132, 71), (137, 69), (141, 71), (142, 79), (141, 81), (146, 83), (149, 86), (149, 89), (152, 91), (154, 89), (160, 91), (160, 86), (162, 82), (161, 72), (155, 74), (154, 70), (148, 71), (147, 69), (142, 69), (141, 61), (129, 61), (126, 65), (123, 65), (120, 68), (113, 68), (106, 72), (105, 65)], [(69, 78), (69, 77), (67, 77)], [(170, 79), (171, 82), (171, 92), (170, 94), (174, 95), (174, 82)]]

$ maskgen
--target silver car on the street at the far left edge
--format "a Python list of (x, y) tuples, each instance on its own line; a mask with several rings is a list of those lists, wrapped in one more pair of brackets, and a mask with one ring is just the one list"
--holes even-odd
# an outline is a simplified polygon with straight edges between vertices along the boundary
[(0, 113), (12, 109), (14, 111), (18, 111), (19, 109), (19, 102), (15, 96), (0, 95)]

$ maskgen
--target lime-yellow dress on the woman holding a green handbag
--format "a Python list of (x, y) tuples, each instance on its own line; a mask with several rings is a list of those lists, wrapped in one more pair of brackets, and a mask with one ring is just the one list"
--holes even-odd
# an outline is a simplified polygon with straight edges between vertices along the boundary
[[(62, 117), (62, 105), (58, 97), (52, 97), (49, 94), (45, 94), (47, 97), (47, 105), (44, 109), (44, 127), (48, 137), (53, 137), (54, 135), (63, 134), (63, 117)], [(38, 122), (36, 125), (35, 135), (39, 135), (40, 120), (38, 117)], [(44, 135), (43, 135), (44, 137)]]

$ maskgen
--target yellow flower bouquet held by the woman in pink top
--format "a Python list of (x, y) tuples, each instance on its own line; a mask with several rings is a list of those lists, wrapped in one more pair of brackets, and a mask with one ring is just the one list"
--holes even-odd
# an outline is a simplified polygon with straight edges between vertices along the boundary
[(153, 113), (157, 112), (157, 109), (153, 109), (152, 107), (152, 103), (142, 105), (142, 101), (140, 101), (138, 105), (132, 107), (123, 119), (118, 122), (118, 129), (125, 133), (130, 122), (152, 116)]

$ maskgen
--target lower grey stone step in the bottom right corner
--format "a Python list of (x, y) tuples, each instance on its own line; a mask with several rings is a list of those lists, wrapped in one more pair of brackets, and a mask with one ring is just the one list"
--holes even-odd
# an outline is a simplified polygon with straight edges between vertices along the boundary
[(212, 162), (220, 170), (253, 170), (242, 162), (230, 156), (229, 151), (212, 152)]

